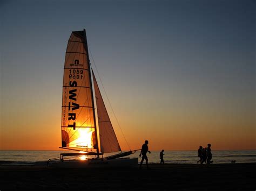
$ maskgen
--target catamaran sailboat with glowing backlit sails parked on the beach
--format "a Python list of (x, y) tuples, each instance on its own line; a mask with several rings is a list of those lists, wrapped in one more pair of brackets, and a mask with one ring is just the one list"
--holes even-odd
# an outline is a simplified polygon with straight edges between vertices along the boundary
[[(138, 166), (138, 158), (121, 158), (136, 151), (122, 152), (120, 148), (90, 65), (85, 29), (73, 31), (66, 48), (61, 132), (60, 148), (77, 152), (50, 159), (50, 167)], [(103, 157), (112, 152), (119, 153)]]

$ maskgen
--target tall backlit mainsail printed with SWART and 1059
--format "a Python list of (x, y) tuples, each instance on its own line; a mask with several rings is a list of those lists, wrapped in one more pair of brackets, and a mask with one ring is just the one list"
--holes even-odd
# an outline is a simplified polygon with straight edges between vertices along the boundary
[(66, 49), (62, 97), (62, 147), (98, 149), (92, 82), (84, 31)]

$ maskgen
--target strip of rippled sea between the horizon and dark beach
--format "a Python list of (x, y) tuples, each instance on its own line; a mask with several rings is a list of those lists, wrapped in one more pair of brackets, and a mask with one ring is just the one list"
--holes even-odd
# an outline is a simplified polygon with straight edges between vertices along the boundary
[[(49, 159), (59, 158), (60, 153), (68, 153), (76, 151), (0, 151), (0, 164), (10, 162), (13, 165), (21, 164), (35, 164), (35, 162), (45, 162)], [(130, 155), (130, 158), (139, 158), (140, 151)], [(149, 163), (159, 163), (160, 151), (151, 151), (151, 154), (147, 154)], [(197, 157), (197, 151), (165, 151), (164, 161), (166, 163), (173, 164), (197, 164), (199, 158)], [(238, 163), (241, 162), (256, 162), (256, 150), (250, 151), (212, 151), (213, 163), (231, 163), (235, 160)], [(104, 154), (106, 157), (109, 154)], [(144, 161), (145, 162), (145, 161)]]

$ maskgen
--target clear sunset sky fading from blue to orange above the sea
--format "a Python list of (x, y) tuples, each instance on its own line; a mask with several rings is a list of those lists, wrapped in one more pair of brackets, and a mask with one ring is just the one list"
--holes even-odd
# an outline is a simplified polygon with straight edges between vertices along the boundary
[(255, 6), (249, 0), (1, 0), (0, 149), (61, 146), (66, 45), (72, 31), (84, 28), (132, 149), (145, 139), (150, 150), (207, 143), (213, 150), (256, 149)]

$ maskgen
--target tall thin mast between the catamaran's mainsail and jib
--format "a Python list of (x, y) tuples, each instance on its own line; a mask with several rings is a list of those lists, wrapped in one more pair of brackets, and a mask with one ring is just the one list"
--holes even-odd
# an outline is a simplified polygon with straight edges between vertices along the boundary
[(94, 121), (94, 124), (95, 124), (95, 137), (96, 137), (96, 142), (97, 142), (97, 157), (99, 159), (99, 142), (98, 142), (98, 133), (97, 133), (96, 115), (95, 115), (95, 105), (94, 105), (94, 100), (95, 99), (94, 99), (93, 90), (92, 90), (91, 63), (90, 63), (90, 59), (89, 59), (89, 52), (88, 52), (87, 37), (86, 37), (85, 29), (84, 29), (84, 44), (85, 44), (85, 50), (86, 50), (87, 63), (89, 65), (89, 79), (90, 79), (90, 85), (91, 85), (93, 121)]

